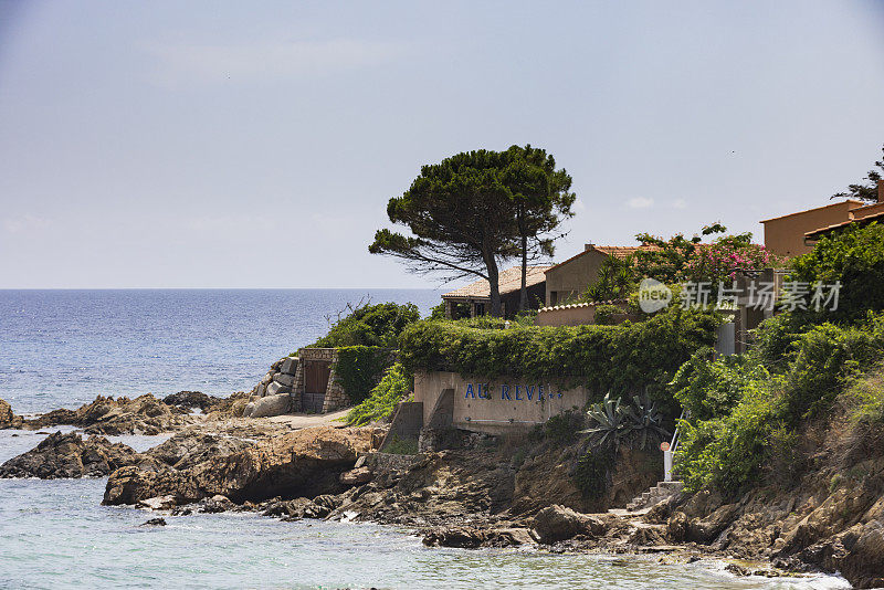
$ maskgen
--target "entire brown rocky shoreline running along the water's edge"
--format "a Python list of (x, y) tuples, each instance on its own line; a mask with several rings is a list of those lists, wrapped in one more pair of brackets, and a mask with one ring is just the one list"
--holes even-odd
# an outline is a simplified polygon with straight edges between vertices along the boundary
[[(396, 455), (378, 452), (383, 426), (294, 429), (235, 415), (245, 400), (97, 398), (21, 422), (0, 403), (7, 428), (82, 429), (51, 434), (0, 466), (0, 477), (107, 476), (103, 504), (162, 516), (245, 510), (373, 521), (404, 527), (428, 546), (722, 558), (739, 575), (839, 571), (857, 588), (884, 584), (880, 459), (862, 463), (862, 483), (838, 489), (820, 465), (788, 492), (680, 493), (650, 509), (609, 512), (654, 483), (652, 454), (621, 450), (606, 492), (588, 497), (571, 476), (579, 441), (460, 433), (435, 436), (444, 447)], [(173, 434), (144, 453), (103, 436), (159, 432)]]

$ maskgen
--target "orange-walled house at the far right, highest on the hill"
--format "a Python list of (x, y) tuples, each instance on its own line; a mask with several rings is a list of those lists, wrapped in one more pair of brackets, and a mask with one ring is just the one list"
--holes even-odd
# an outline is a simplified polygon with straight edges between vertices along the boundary
[(833, 230), (851, 223), (869, 223), (884, 219), (884, 180), (877, 185), (877, 202), (848, 199), (761, 221), (765, 225), (765, 247), (780, 256), (798, 256), (813, 249), (813, 242)]

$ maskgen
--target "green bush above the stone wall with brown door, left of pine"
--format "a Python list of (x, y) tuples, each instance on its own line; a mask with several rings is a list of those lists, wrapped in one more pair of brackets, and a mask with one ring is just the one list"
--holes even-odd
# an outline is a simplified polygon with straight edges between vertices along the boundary
[(409, 324), (420, 319), (414, 304), (381, 303), (356, 307), (354, 312), (332, 326), (328, 334), (311, 348), (338, 348), (341, 346), (381, 346), (396, 348), (399, 335)]

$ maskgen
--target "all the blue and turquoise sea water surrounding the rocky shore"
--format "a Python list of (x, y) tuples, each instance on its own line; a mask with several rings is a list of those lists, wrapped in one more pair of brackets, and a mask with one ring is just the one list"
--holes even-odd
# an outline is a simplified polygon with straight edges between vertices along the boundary
[[(432, 289), (0, 291), (0, 398), (15, 413), (96, 396), (250, 389), (360, 302)], [(69, 431), (70, 428), (52, 429)], [(0, 463), (50, 431), (0, 430)], [(115, 436), (147, 450), (166, 436)], [(0, 480), (0, 588), (849, 588), (834, 576), (735, 577), (724, 563), (535, 549), (425, 548), (373, 524), (244, 514), (166, 517), (102, 506), (106, 478)]]

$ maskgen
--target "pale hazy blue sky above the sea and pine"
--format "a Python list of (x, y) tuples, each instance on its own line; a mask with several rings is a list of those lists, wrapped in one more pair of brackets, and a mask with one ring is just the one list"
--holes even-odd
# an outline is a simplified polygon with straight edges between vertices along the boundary
[(514, 144), (573, 178), (557, 261), (761, 241), (881, 157), (884, 1), (0, 0), (0, 288), (439, 287), (387, 201)]

